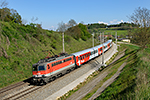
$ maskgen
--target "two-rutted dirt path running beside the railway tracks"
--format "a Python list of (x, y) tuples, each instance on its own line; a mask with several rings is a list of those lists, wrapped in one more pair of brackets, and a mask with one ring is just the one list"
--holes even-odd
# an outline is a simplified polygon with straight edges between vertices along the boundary
[[(110, 65), (115, 63), (121, 57), (123, 57), (125, 55), (124, 51), (125, 51), (125, 49), (115, 57), (115, 59), (112, 61), (112, 63)], [(67, 100), (80, 100), (83, 97), (85, 97), (101, 80), (103, 80), (109, 74), (109, 69), (111, 69), (111, 67), (112, 67), (110, 65), (108, 65), (109, 67), (107, 67), (99, 75), (97, 75), (95, 79), (90, 81), (88, 84), (84, 85), (82, 88), (80, 88), (74, 94), (72, 94), (69, 98), (67, 98)], [(120, 68), (118, 68), (118, 71), (110, 79), (108, 79), (89, 100), (93, 100), (93, 98), (96, 98), (107, 86), (109, 86), (112, 82), (114, 82), (114, 80), (116, 79), (116, 77), (119, 76), (120, 71), (122, 70), (122, 68), (125, 65), (126, 65), (126, 62), (123, 63), (120, 66)]]

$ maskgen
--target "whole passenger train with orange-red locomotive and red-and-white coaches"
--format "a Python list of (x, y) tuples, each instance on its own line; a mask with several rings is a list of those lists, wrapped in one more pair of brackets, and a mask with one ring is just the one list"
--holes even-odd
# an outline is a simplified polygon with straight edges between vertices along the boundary
[(33, 83), (48, 83), (65, 73), (81, 66), (89, 60), (98, 57), (112, 47), (112, 40), (108, 40), (103, 45), (98, 45), (83, 51), (42, 59), (32, 65)]

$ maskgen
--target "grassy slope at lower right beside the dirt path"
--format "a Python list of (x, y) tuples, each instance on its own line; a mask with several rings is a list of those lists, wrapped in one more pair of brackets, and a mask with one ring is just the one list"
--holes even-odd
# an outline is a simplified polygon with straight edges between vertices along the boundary
[[(96, 100), (149, 100), (150, 99), (150, 49), (127, 47), (126, 54), (132, 53), (120, 76)], [(133, 49), (133, 50), (132, 50)]]

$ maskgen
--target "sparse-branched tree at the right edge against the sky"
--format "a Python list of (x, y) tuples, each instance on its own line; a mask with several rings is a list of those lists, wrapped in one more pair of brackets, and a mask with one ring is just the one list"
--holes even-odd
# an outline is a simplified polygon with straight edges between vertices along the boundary
[(150, 43), (150, 10), (138, 7), (129, 18), (137, 26), (130, 33), (133, 37), (132, 42), (145, 48)]

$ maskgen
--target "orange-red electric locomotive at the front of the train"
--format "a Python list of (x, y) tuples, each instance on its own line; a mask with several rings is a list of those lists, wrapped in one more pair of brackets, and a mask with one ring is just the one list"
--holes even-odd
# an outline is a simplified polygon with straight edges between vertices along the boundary
[(33, 83), (47, 83), (75, 68), (74, 56), (62, 56), (40, 60), (33, 64)]

